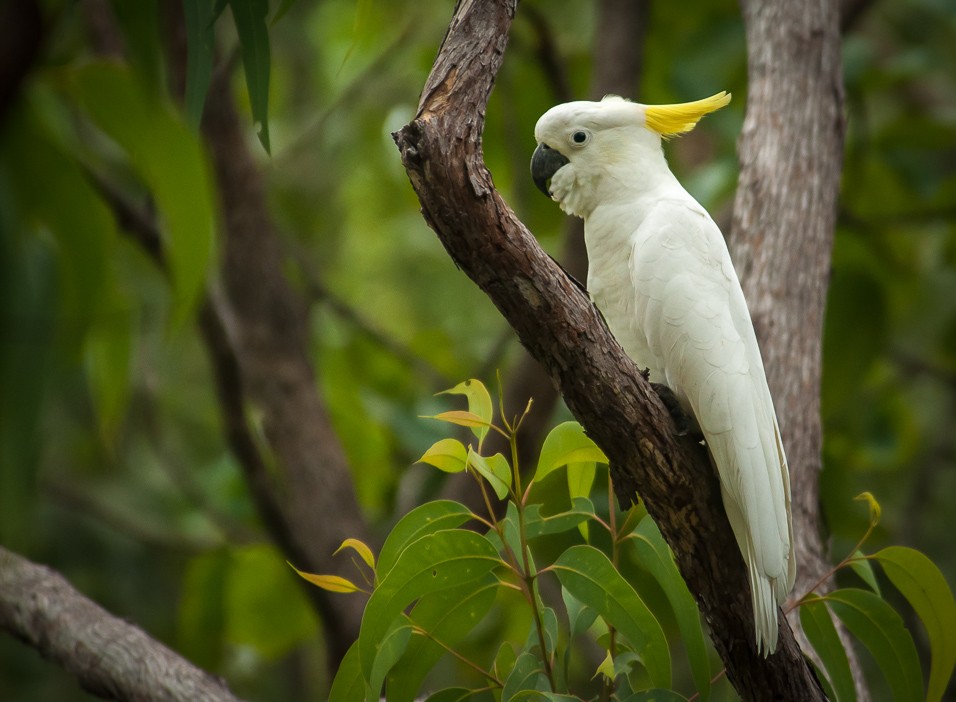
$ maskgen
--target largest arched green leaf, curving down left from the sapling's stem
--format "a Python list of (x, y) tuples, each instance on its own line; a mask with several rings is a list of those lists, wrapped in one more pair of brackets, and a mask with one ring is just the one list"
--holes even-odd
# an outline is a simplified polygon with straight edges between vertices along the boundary
[[(359, 654), (366, 680), (371, 678), (386, 632), (409, 604), (430, 593), (474, 582), (499, 565), (501, 560), (488, 539), (463, 529), (428, 534), (405, 548), (375, 588), (362, 617)], [(379, 690), (371, 693), (377, 695)]]

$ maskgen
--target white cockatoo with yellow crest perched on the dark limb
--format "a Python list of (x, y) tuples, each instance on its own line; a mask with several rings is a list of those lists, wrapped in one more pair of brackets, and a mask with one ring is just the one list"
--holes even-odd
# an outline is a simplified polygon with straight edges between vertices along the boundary
[(787, 459), (727, 245), (661, 144), (728, 102), (721, 92), (678, 105), (617, 96), (558, 105), (535, 125), (531, 174), (584, 219), (587, 288), (611, 332), (704, 436), (767, 656), (795, 576)]

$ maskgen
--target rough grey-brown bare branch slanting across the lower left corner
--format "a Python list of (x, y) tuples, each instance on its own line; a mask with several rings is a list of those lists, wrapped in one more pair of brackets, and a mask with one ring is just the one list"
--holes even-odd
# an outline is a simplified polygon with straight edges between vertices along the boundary
[(225, 683), (114, 617), (58, 573), (0, 547), (0, 630), (88, 692), (129, 702), (236, 702)]

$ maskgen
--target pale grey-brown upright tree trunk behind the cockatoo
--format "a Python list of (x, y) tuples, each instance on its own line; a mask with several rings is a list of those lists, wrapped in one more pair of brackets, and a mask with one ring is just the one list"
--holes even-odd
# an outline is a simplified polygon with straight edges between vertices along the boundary
[[(798, 565), (794, 593), (801, 595), (831, 567), (819, 507), (820, 381), (843, 156), (840, 4), (741, 4), (749, 92), (730, 246), (790, 461)], [(830, 582), (824, 586), (831, 588)], [(793, 623), (802, 636), (797, 619)], [(866, 699), (862, 670), (845, 632), (843, 640), (858, 694)]]

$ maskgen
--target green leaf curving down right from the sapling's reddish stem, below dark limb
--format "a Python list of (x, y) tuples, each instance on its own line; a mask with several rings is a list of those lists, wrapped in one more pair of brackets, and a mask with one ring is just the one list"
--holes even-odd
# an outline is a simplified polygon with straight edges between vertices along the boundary
[(572, 595), (630, 640), (655, 685), (670, 687), (671, 659), (664, 631), (607, 556), (591, 546), (572, 546), (551, 569)]

